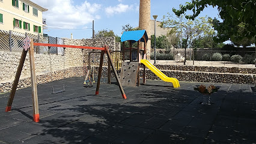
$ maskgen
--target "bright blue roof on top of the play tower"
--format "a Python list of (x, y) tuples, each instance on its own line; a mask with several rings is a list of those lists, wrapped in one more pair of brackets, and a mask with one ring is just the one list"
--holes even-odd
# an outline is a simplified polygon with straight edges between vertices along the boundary
[[(146, 40), (144, 40), (143, 35), (145, 35)], [(138, 31), (125, 31), (121, 36), (121, 41), (130, 40), (132, 43), (135, 41), (141, 40), (142, 42), (148, 41), (148, 35), (146, 30), (138, 30)]]

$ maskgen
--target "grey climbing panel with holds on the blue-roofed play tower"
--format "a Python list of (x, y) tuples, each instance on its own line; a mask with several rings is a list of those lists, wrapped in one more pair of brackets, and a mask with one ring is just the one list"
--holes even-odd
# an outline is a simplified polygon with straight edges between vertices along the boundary
[(120, 81), (123, 86), (136, 86), (139, 62), (123, 62)]

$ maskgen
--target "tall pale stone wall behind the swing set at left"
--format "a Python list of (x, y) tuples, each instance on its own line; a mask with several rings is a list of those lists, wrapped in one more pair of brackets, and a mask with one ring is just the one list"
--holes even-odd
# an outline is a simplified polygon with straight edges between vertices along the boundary
[[(69, 38), (63, 38), (64, 44), (75, 45), (75, 46), (91, 46), (91, 47), (103, 47), (105, 44), (109, 46), (109, 49), (115, 50), (115, 37), (108, 38), (94, 38), (93, 39), (82, 39), (75, 40)], [(66, 48), (64, 56), (62, 55), (44, 55), (44, 54), (35, 54), (35, 72), (37, 77), (44, 77), (49, 79), (50, 71), (55, 73), (60, 73), (58, 71), (72, 70), (70, 76), (82, 76), (83, 74), (78, 74), (79, 72), (76, 69), (84, 68), (85, 65), (88, 65), (88, 52), (93, 50), (88, 49), (73, 49)], [(95, 50), (97, 52), (99, 50)], [(14, 77), (16, 75), (17, 67), (19, 65), (21, 52), (2, 52), (0, 51), (0, 92), (10, 89), (10, 83), (13, 83)], [(99, 53), (95, 53), (91, 56), (94, 58), (94, 65), (99, 65)], [(104, 60), (104, 65), (106, 65), (106, 56)], [(75, 69), (75, 71), (73, 70)], [(67, 75), (69, 76), (69, 75)], [(26, 56), (25, 64), (23, 65), (22, 74), (20, 76), (20, 82), (18, 88), (26, 88), (30, 85), (30, 66), (29, 66), (29, 57)], [(59, 79), (62, 79), (61, 77)], [(28, 80), (28, 81), (27, 81)], [(43, 78), (41, 78), (40, 83)], [(46, 82), (48, 82), (46, 80)]]

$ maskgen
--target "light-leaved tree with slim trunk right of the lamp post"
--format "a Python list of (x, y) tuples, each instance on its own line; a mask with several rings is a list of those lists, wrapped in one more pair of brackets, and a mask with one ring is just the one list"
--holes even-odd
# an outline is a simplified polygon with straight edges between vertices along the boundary
[[(172, 14), (168, 13), (168, 16), (163, 16), (163, 22), (160, 24), (161, 27), (173, 27), (174, 31), (169, 31), (169, 34), (172, 35), (174, 32), (177, 32), (177, 35), (180, 36), (180, 41), (184, 44), (185, 56), (184, 56), (184, 65), (186, 64), (186, 48), (189, 45), (187, 42), (194, 40), (201, 34), (215, 34), (212, 28), (212, 19), (207, 19), (206, 17), (199, 17), (195, 20), (187, 20), (184, 15), (173, 17)], [(185, 41), (183, 41), (185, 39)]]

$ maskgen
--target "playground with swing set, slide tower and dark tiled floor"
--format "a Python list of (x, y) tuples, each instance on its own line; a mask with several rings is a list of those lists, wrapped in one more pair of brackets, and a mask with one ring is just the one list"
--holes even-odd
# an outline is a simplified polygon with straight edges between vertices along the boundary
[[(27, 37), (11, 92), (0, 95), (0, 142), (255, 142), (255, 85), (179, 82), (147, 60), (145, 30), (124, 32), (121, 41), (122, 52), (112, 55), (108, 46), (34, 43)], [(65, 77), (64, 64), (62, 80), (37, 85), (34, 46), (90, 50), (82, 51), (88, 54), (85, 77)], [(17, 89), (27, 52), (31, 87)], [(97, 69), (91, 55), (99, 56)], [(146, 67), (161, 80), (146, 80)], [(206, 96), (195, 91), (199, 85), (214, 85), (218, 91), (207, 88)]]

